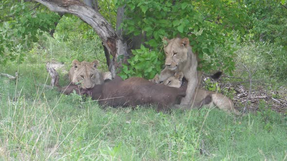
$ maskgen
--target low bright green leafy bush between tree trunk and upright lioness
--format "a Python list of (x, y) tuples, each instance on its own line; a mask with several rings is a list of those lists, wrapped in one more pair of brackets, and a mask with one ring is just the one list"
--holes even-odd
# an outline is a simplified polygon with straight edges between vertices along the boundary
[(129, 64), (123, 64), (122, 70), (118, 74), (122, 79), (125, 80), (129, 77), (152, 79), (161, 72), (163, 54), (150, 51), (143, 45), (141, 49), (132, 50), (132, 54), (133, 56), (127, 60)]

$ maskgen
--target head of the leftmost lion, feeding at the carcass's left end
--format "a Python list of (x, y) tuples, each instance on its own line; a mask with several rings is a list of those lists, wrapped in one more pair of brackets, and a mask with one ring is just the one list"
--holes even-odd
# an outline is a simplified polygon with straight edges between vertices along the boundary
[(93, 88), (97, 84), (103, 84), (104, 79), (102, 73), (97, 69), (98, 61), (79, 62), (73, 60), (70, 69), (69, 78), (72, 83), (80, 84), (83, 89)]

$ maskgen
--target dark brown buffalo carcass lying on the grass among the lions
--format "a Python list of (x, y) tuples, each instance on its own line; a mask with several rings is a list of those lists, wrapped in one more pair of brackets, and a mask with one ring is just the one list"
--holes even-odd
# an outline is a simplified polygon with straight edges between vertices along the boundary
[(72, 93), (89, 95), (93, 100), (99, 100), (102, 105), (111, 107), (156, 105), (158, 111), (169, 109), (174, 104), (179, 104), (180, 99), (185, 96), (186, 84), (181, 88), (168, 87), (156, 84), (143, 78), (129, 78), (122, 81), (116, 77), (112, 81), (101, 85), (95, 85), (90, 90), (79, 89), (77, 85), (62, 88), (65, 94)]

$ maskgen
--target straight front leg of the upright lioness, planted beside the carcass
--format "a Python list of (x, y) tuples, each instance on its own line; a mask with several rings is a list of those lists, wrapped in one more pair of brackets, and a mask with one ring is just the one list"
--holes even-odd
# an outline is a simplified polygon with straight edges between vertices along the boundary
[[(195, 75), (197, 76), (197, 75)], [(197, 77), (189, 78), (187, 82), (187, 88), (186, 88), (186, 95), (183, 97), (180, 101), (180, 105), (192, 105), (193, 98), (195, 96), (195, 89), (197, 88), (198, 80)]]

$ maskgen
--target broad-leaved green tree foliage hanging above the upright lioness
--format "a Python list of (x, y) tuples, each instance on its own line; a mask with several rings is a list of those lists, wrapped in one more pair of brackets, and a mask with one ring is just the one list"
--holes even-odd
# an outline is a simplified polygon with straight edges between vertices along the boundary
[[(222, 70), (234, 69), (233, 52), (225, 57), (215, 53), (215, 47), (229, 48), (225, 41), (233, 30), (244, 33), (246, 22), (245, 8), (233, 0), (204, 0), (204, 1), (142, 1), (122, 0), (118, 5), (126, 5), (125, 14), (128, 17), (123, 24), (126, 34), (138, 35), (145, 33), (148, 41), (145, 44), (158, 51), (162, 46), (163, 36), (169, 38), (180, 35), (188, 37), (193, 50), (199, 54), (213, 57), (211, 62), (202, 62), (204, 69)], [(220, 59), (223, 59), (220, 60)], [(221, 65), (213, 65), (223, 62)]]

